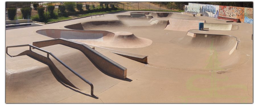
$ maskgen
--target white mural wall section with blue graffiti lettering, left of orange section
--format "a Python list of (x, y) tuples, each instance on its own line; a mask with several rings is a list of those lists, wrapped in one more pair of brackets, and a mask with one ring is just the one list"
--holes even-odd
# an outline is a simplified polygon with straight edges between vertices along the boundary
[(203, 16), (218, 18), (219, 6), (189, 3), (189, 5), (185, 5), (185, 12), (193, 14), (201, 13)]

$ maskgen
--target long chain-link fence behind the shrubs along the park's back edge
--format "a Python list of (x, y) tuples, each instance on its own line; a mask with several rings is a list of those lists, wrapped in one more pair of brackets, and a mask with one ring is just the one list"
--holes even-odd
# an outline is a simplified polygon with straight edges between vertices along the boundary
[[(32, 18), (33, 21), (42, 22), (42, 20), (47, 20), (49, 18), (54, 18), (58, 16), (70, 16), (89, 12), (101, 12), (101, 11), (111, 11), (111, 10), (146, 10), (146, 11), (184, 11), (185, 5), (176, 4), (160, 4), (160, 3), (150, 3), (150, 2), (85, 2), (81, 5), (64, 5), (63, 2), (57, 2), (59, 5), (48, 6), (50, 2), (34, 2), (38, 3), (41, 7), (33, 7), (31, 3), (31, 14), (29, 17), (23, 17), (21, 13), (22, 7), (16, 7), (16, 17), (15, 19), (26, 19)], [(54, 7), (54, 8), (53, 8)], [(53, 9), (49, 11), (49, 9)], [(41, 13), (38, 13), (40, 10)], [(44, 12), (43, 12), (44, 11)], [(44, 14), (44, 15), (42, 15)], [(44, 18), (42, 18), (44, 16)], [(9, 20), (6, 11), (6, 20)]]

